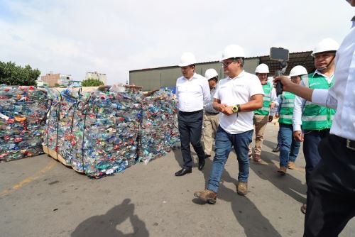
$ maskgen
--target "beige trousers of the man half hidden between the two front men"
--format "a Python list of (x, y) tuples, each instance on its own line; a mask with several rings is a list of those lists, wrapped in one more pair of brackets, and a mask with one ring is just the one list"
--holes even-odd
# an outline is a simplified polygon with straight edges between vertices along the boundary
[(211, 155), (214, 138), (216, 138), (216, 131), (219, 125), (219, 114), (204, 114), (203, 120), (203, 150), (204, 155)]

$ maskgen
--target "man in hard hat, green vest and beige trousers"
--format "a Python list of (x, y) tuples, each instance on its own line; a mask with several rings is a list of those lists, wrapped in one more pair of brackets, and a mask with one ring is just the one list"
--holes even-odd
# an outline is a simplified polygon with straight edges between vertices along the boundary
[[(273, 83), (268, 82), (268, 65), (261, 63), (255, 70), (256, 76), (261, 82), (263, 87), (264, 97), (263, 97), (263, 108), (256, 109), (254, 111), (253, 122), (255, 126), (255, 148), (253, 160), (256, 162), (261, 161), (261, 148), (263, 146), (263, 133), (268, 122), (273, 121), (273, 116), (270, 114), (270, 110), (275, 106), (275, 101), (277, 99), (275, 88), (273, 88)], [(251, 144), (249, 145), (249, 157), (252, 155)]]

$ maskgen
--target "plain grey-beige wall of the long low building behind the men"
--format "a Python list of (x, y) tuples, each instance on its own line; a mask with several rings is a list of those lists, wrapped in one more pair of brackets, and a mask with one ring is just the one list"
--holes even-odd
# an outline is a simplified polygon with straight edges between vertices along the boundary
[[(253, 73), (259, 65), (259, 58), (247, 58), (244, 63), (244, 70)], [(219, 79), (224, 78), (221, 62), (203, 62), (196, 65), (198, 74), (204, 76), (207, 69), (214, 68)], [(158, 67), (152, 69), (129, 71), (129, 84), (143, 87), (143, 91), (159, 89), (160, 87), (175, 87), (176, 79), (181, 77), (180, 67)]]

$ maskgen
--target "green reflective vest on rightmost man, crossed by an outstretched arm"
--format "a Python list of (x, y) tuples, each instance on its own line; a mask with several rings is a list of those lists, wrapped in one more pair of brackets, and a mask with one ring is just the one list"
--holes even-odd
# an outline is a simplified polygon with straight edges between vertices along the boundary
[[(311, 89), (329, 89), (334, 84), (334, 77), (329, 84), (322, 75), (311, 73), (308, 78), (303, 79), (306, 87)], [(323, 130), (332, 126), (335, 109), (312, 104), (306, 101), (302, 114), (302, 128), (305, 130)]]

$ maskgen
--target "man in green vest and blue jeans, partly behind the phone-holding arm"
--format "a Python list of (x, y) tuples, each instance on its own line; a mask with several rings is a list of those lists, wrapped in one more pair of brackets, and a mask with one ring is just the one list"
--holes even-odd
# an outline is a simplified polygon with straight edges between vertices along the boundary
[[(300, 84), (302, 77), (307, 76), (305, 67), (297, 65), (290, 71), (291, 82)], [(280, 104), (278, 111), (278, 123), (280, 126), (280, 168), (278, 172), (285, 175), (287, 168), (295, 169), (295, 160), (300, 150), (300, 141), (293, 138), (293, 106), (295, 94), (283, 92), (278, 96), (277, 104)]]

